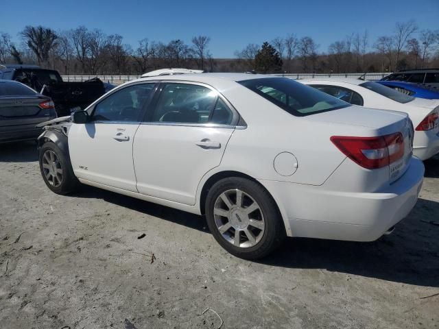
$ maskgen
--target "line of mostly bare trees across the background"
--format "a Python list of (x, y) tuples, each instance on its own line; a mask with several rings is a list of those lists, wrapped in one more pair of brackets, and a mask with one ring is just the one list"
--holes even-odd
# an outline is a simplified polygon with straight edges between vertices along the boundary
[(14, 43), (0, 32), (0, 63), (39, 64), (73, 74), (141, 74), (165, 67), (185, 67), (211, 72), (261, 73), (364, 73), (439, 66), (439, 30), (418, 30), (414, 21), (396, 23), (390, 35), (370, 40), (368, 32), (353, 33), (320, 51), (310, 36), (289, 34), (263, 45), (249, 44), (235, 58), (214, 58), (209, 36), (182, 40), (139, 40), (135, 46), (119, 34), (80, 26), (56, 32), (26, 26)]

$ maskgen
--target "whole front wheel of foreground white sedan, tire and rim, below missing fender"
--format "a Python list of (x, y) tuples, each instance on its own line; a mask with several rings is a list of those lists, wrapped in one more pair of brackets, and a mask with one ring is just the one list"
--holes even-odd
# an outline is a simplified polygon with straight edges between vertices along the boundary
[(55, 143), (47, 142), (40, 148), (39, 162), (43, 180), (51, 191), (64, 195), (78, 188), (68, 155)]

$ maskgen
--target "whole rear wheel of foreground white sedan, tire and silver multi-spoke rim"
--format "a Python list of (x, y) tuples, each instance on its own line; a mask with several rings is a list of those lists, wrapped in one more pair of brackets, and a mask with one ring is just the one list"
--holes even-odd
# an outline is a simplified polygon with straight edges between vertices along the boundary
[(246, 178), (225, 178), (211, 187), (206, 219), (217, 242), (240, 258), (263, 258), (285, 238), (270, 193)]

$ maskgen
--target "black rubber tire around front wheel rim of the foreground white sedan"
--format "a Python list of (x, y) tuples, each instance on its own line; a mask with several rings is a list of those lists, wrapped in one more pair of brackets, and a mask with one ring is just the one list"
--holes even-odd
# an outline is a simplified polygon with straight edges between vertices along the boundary
[[(46, 173), (48, 169), (43, 168), (43, 162), (47, 164), (47, 160), (43, 160), (47, 151), (49, 151), (49, 153), (53, 152), (55, 154), (56, 158), (58, 159), (57, 166), (58, 168), (62, 169), (62, 175), (58, 175), (58, 177), (60, 177), (61, 179), (56, 180), (56, 184), (54, 184), (53, 180), (51, 182), (51, 180), (47, 178)], [(70, 157), (68, 154), (65, 154), (65, 152), (62, 151), (55, 143), (46, 142), (43, 144), (43, 146), (40, 148), (38, 162), (40, 163), (40, 172), (43, 176), (43, 180), (52, 192), (60, 195), (66, 195), (78, 189), (80, 182), (73, 173)], [(58, 182), (60, 184), (58, 184)]]

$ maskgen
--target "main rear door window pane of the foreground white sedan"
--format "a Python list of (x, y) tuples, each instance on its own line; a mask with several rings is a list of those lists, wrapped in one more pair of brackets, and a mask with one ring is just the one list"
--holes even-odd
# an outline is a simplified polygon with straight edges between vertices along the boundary
[[(157, 101), (152, 122), (208, 123), (217, 92), (196, 84), (165, 84)], [(219, 106), (220, 107), (220, 106)], [(218, 108), (218, 112), (221, 109)], [(220, 114), (217, 114), (217, 118)]]

